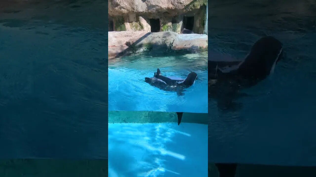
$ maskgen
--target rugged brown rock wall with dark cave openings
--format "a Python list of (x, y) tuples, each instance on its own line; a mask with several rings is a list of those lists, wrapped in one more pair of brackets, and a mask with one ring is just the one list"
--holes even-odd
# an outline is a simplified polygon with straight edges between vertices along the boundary
[(204, 33), (207, 0), (109, 0), (109, 31)]

